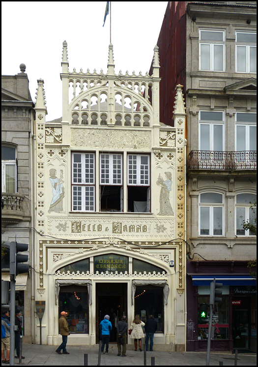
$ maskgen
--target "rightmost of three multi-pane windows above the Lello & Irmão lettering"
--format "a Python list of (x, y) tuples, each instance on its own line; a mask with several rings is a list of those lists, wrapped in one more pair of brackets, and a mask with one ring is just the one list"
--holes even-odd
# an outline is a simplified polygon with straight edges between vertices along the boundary
[(127, 210), (149, 213), (150, 157), (146, 154), (127, 156)]

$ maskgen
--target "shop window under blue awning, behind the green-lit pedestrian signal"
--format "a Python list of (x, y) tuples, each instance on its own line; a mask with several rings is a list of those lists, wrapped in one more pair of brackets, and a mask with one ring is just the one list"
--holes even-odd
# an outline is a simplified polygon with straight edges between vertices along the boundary
[[(210, 296), (199, 295), (198, 298), (198, 339), (208, 338)], [(212, 338), (229, 338), (229, 296), (222, 296), (221, 303), (215, 303), (212, 316)], [(214, 331), (214, 334), (213, 334)]]

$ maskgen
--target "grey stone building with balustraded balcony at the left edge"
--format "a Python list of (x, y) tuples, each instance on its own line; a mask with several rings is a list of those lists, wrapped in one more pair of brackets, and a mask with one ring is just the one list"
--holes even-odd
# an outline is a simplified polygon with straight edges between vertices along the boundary
[[(9, 242), (29, 244), (31, 258), (31, 202), (32, 202), (32, 131), (34, 121), (33, 101), (29, 92), (29, 79), (25, 64), (16, 75), (2, 75), (2, 280), (9, 281)], [(7, 244), (7, 245), (6, 245)], [(25, 341), (31, 342), (31, 278), (20, 274), (16, 278), (16, 305), (24, 317)], [(6, 287), (7, 289), (7, 287)]]

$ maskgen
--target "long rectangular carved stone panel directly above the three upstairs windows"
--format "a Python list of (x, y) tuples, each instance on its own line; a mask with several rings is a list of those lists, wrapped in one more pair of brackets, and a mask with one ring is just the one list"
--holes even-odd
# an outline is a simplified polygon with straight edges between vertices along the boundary
[(151, 148), (151, 132), (73, 129), (71, 145), (88, 148)]

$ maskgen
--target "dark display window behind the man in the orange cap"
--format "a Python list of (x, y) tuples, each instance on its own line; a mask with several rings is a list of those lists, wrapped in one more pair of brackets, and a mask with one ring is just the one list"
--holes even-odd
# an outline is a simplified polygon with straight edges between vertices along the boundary
[(59, 314), (67, 312), (70, 334), (88, 334), (88, 291), (86, 286), (62, 286), (59, 292)]

